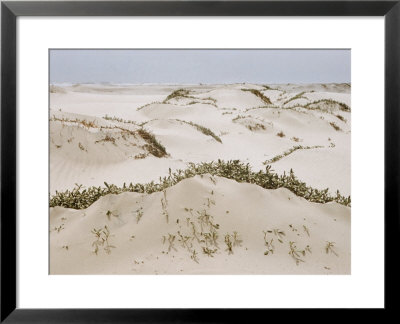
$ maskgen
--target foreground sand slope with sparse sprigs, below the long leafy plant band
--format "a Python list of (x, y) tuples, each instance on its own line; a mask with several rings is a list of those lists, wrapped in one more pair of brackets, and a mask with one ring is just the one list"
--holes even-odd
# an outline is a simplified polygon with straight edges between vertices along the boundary
[(50, 273), (349, 274), (350, 208), (207, 174), (165, 193), (107, 195), (84, 210), (51, 208)]

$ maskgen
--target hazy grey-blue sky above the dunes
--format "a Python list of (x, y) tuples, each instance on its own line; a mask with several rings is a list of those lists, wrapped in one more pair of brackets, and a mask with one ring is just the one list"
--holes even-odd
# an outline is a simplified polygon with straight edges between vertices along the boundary
[(350, 50), (51, 50), (51, 83), (350, 82)]

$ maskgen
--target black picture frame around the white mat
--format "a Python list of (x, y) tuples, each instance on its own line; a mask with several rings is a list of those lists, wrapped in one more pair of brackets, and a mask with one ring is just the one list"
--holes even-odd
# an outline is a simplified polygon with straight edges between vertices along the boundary
[[(4, 1), (1, 3), (1, 322), (235, 322), (265, 310), (16, 308), (16, 19), (19, 16), (384, 16), (385, 309), (396, 308), (399, 237), (400, 1)], [(373, 176), (373, 170), (371, 170)], [(370, 176), (371, 176), (370, 175)], [(365, 180), (366, 182), (368, 179)], [(368, 283), (366, 282), (366, 285)], [(344, 292), (345, 293), (345, 292)], [(240, 315), (240, 316), (239, 316)], [(261, 317), (262, 318), (262, 317)], [(266, 320), (266, 318), (264, 318)]]

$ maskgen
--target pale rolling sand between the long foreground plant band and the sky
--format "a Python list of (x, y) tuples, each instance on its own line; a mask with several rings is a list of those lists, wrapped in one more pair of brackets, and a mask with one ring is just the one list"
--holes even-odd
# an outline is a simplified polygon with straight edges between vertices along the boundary
[[(179, 95), (171, 96), (177, 90)], [(296, 96), (299, 98), (291, 100)], [(140, 138), (121, 139), (121, 129), (99, 132), (50, 122), (50, 192), (71, 189), (75, 183), (149, 182), (166, 175), (169, 168), (184, 168), (188, 162), (239, 159), (253, 169), (263, 169), (265, 161), (300, 145), (324, 149), (285, 156), (271, 163), (276, 171), (293, 168), (318, 189), (329, 187), (332, 193), (339, 189), (350, 194), (349, 180), (337, 181), (338, 176), (349, 179), (350, 172), (351, 113), (343, 111), (340, 104), (350, 105), (347, 84), (53, 86), (50, 117), (67, 116), (130, 131), (145, 128), (166, 148), (168, 156), (148, 154)], [(106, 115), (116, 119), (105, 120), (102, 117)], [(221, 142), (188, 123), (207, 128)], [(108, 133), (118, 139), (104, 141)], [(66, 141), (72, 137), (75, 142), (69, 145)], [(79, 143), (84, 147), (82, 152)], [(85, 150), (88, 154), (83, 154)], [(307, 171), (308, 161), (314, 161), (314, 168)], [(335, 167), (337, 163), (339, 167)], [(138, 169), (140, 173), (132, 172)]]

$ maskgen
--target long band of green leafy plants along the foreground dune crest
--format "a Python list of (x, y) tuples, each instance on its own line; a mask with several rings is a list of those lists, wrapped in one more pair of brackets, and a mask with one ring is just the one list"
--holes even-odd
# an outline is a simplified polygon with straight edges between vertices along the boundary
[(89, 207), (100, 197), (108, 194), (119, 194), (122, 192), (138, 192), (153, 193), (160, 192), (176, 185), (178, 182), (192, 178), (196, 175), (211, 174), (213, 176), (224, 177), (238, 182), (253, 183), (265, 189), (286, 188), (299, 197), (303, 197), (308, 201), (316, 203), (327, 203), (335, 201), (339, 204), (350, 206), (350, 196), (344, 197), (339, 191), (336, 196), (328, 193), (329, 189), (318, 190), (307, 186), (305, 182), (296, 178), (293, 171), (289, 174), (284, 173), (278, 175), (271, 170), (271, 166), (267, 165), (265, 170), (254, 172), (250, 165), (242, 163), (239, 160), (217, 162), (203, 162), (199, 164), (190, 163), (186, 170), (177, 170), (169, 173), (168, 177), (161, 178), (159, 182), (149, 182), (145, 184), (136, 183), (129, 185), (124, 184), (122, 187), (116, 185), (105, 184), (105, 187), (90, 187), (83, 189), (77, 186), (73, 190), (58, 192), (50, 198), (50, 207), (61, 206), (65, 208), (84, 209)]

